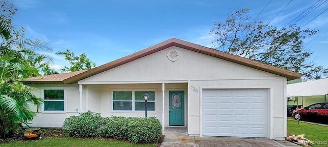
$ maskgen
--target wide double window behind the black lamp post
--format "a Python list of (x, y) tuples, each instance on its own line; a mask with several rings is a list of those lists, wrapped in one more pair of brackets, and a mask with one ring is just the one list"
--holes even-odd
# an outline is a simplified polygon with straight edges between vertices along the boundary
[(113, 110), (145, 111), (145, 93), (147, 110), (155, 111), (155, 91), (113, 91)]

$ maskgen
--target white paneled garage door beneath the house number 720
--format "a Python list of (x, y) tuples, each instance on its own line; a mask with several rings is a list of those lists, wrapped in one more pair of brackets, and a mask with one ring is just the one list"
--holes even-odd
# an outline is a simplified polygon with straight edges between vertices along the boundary
[(266, 89), (205, 89), (203, 136), (267, 137)]

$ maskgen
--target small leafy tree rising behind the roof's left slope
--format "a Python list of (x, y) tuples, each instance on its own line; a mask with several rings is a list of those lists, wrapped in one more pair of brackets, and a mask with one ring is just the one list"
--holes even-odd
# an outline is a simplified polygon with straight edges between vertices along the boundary
[(61, 69), (63, 72), (90, 70), (96, 67), (95, 62), (90, 61), (85, 53), (80, 54), (80, 56), (75, 56), (73, 52), (71, 52), (69, 49), (66, 49), (65, 52), (56, 52), (56, 54), (65, 55), (65, 59), (71, 64), (70, 67), (65, 66), (63, 69)]

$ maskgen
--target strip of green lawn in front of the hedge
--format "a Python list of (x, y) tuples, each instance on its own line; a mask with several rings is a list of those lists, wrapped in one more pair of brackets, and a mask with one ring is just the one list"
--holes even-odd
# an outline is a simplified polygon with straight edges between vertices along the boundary
[(124, 141), (105, 140), (105, 139), (76, 139), (76, 138), (44, 138), (39, 140), (12, 142), (0, 144), (1, 147), (15, 146), (149, 146), (154, 147), (155, 144), (130, 144)]

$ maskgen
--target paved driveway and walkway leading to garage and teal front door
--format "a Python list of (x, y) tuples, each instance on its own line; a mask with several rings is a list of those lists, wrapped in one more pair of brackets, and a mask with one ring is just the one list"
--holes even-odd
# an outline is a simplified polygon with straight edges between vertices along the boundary
[(160, 146), (299, 146), (286, 140), (235, 137), (193, 137), (188, 136), (185, 127), (166, 127), (165, 138)]

